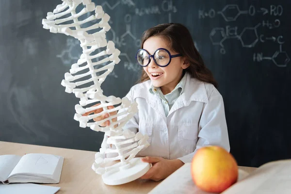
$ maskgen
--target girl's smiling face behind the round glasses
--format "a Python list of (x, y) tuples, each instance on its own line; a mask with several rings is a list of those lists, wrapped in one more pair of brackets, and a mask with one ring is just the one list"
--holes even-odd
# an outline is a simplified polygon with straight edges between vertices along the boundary
[[(143, 49), (150, 55), (153, 55), (154, 52), (160, 48), (169, 50), (171, 55), (180, 54), (169, 48), (167, 42), (161, 36), (149, 37), (143, 45)], [(143, 68), (153, 86), (160, 87), (162, 93), (165, 95), (174, 90), (182, 78), (183, 69), (186, 69), (188, 66), (189, 64), (185, 62), (183, 57), (172, 58), (171, 63), (166, 67), (158, 66), (151, 58), (150, 63)]]

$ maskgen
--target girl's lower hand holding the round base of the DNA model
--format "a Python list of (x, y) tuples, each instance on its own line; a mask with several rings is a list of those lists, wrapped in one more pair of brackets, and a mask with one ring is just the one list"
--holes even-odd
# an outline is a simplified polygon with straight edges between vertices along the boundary
[(152, 167), (143, 175), (142, 179), (151, 179), (154, 181), (159, 181), (164, 178), (167, 178), (173, 172), (175, 172), (178, 168), (184, 165), (184, 162), (174, 159), (167, 160), (158, 157), (145, 157), (141, 159), (143, 162), (152, 163)]

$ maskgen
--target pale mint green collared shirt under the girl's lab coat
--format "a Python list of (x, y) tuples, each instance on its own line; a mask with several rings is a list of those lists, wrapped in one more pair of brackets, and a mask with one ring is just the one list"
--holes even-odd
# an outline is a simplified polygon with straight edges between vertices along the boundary
[(162, 90), (160, 87), (155, 87), (155, 86), (151, 85), (151, 87), (149, 88), (149, 92), (151, 94), (158, 95), (160, 97), (160, 99), (162, 101), (162, 107), (165, 111), (166, 116), (168, 116), (169, 111), (172, 108), (172, 106), (174, 105), (177, 98), (182, 94), (183, 88), (184, 88), (185, 83), (186, 83), (186, 78), (187, 78), (187, 73), (185, 73), (185, 75), (183, 76), (181, 81), (176, 85), (174, 90), (171, 93), (166, 94), (166, 95), (162, 94)]

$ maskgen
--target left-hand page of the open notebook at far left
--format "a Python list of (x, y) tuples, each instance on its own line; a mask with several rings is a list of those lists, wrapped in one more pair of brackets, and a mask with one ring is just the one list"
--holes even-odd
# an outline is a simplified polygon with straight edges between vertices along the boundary
[(0, 181), (7, 180), (13, 168), (21, 159), (21, 156), (16, 155), (1, 155), (0, 156)]

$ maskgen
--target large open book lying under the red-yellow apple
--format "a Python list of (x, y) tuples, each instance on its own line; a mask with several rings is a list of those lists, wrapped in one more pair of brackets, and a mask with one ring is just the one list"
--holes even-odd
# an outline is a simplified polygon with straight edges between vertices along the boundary
[[(190, 169), (191, 163), (184, 164), (148, 194), (210, 194), (195, 186)], [(238, 181), (221, 194), (291, 194), (291, 160), (268, 162), (251, 173), (239, 170)]]

